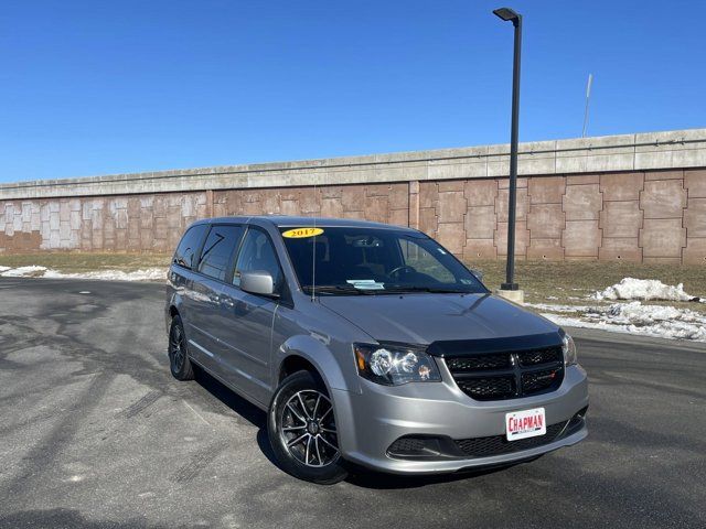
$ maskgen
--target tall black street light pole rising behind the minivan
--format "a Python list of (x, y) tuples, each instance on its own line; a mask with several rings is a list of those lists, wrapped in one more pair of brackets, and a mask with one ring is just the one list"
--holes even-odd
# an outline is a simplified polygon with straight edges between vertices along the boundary
[(509, 8), (493, 11), (515, 26), (515, 51), (512, 72), (512, 130), (510, 132), (510, 205), (507, 208), (507, 268), (501, 290), (518, 290), (515, 276), (515, 209), (517, 204), (517, 141), (520, 134), (520, 53), (522, 51), (522, 15)]

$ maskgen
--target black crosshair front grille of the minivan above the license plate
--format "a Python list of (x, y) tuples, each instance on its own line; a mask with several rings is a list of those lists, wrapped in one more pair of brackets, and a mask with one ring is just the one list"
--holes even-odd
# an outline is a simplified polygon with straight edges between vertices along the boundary
[(564, 380), (561, 346), (447, 357), (461, 391), (475, 400), (505, 400), (557, 389)]

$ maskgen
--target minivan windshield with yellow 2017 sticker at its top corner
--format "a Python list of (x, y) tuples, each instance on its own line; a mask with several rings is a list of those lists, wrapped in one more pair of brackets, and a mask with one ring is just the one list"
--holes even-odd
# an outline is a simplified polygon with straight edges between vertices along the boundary
[(424, 234), (371, 227), (282, 227), (307, 293), (486, 293), (456, 257)]

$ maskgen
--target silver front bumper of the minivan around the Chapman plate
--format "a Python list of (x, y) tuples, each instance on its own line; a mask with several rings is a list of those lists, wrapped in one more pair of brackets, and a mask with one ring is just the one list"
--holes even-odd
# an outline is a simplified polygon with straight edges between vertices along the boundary
[[(463, 393), (446, 369), (441, 382), (379, 386), (362, 380), (362, 392), (332, 390), (344, 458), (395, 474), (435, 474), (502, 465), (576, 444), (588, 431), (582, 419), (571, 422), (566, 434), (527, 450), (489, 456), (446, 453), (402, 458), (388, 454), (403, 436), (470, 440), (504, 435), (505, 413), (544, 408), (547, 425), (568, 423), (588, 407), (588, 380), (579, 366), (566, 369), (561, 386), (553, 392), (502, 401), (475, 401)], [(517, 441), (515, 441), (517, 442)]]

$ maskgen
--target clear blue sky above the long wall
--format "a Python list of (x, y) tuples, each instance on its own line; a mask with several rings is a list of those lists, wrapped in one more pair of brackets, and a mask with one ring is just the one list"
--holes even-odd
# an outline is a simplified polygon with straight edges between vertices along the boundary
[[(502, 6), (3, 2), (0, 182), (506, 142)], [(506, 6), (521, 141), (706, 126), (706, 2)]]

